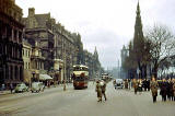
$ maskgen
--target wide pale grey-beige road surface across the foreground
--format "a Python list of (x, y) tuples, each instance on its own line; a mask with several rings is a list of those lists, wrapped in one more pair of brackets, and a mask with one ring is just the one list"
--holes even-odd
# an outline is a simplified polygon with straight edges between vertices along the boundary
[(0, 96), (0, 116), (175, 116), (175, 102), (152, 103), (150, 92), (135, 95), (133, 90), (115, 90), (107, 84), (107, 101), (97, 102), (95, 83), (85, 90), (72, 84), (40, 93), (19, 93)]

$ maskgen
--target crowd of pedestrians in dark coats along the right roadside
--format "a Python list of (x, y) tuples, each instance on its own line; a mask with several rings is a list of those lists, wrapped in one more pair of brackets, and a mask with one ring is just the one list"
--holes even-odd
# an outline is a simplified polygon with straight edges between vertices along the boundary
[[(129, 80), (125, 80), (125, 89), (128, 89), (128, 83)], [(130, 83), (135, 90), (135, 94), (138, 92), (141, 94), (143, 91), (151, 90), (153, 103), (156, 102), (158, 95), (162, 96), (163, 102), (166, 102), (167, 100), (175, 101), (175, 79), (155, 80), (155, 78), (152, 77), (151, 80), (133, 79)]]

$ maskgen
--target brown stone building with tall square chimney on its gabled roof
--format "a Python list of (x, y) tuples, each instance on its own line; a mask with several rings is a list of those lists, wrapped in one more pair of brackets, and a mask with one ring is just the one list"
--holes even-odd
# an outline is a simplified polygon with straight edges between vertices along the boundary
[(42, 56), (45, 57), (44, 69), (54, 67), (54, 33), (50, 27), (50, 13), (35, 14), (35, 9), (28, 9), (28, 16), (23, 19), (25, 24), (25, 38), (34, 46), (39, 43)]

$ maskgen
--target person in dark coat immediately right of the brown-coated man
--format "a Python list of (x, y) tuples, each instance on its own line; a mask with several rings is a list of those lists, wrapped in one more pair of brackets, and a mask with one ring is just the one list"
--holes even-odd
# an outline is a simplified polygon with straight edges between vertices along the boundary
[(165, 79), (162, 80), (160, 94), (162, 95), (162, 101), (165, 102), (167, 95), (167, 82)]

